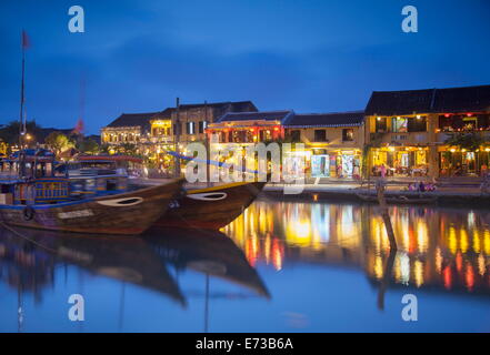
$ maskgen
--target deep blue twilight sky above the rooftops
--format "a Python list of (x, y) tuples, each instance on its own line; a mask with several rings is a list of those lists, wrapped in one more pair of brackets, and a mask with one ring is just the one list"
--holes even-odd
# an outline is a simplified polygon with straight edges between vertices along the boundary
[[(68, 31), (69, 7), (86, 32)], [(401, 30), (416, 6), (419, 32)], [(87, 133), (122, 112), (252, 100), (260, 110), (363, 109), (372, 90), (490, 84), (490, 1), (57, 0), (0, 2), (0, 123), (27, 114)]]

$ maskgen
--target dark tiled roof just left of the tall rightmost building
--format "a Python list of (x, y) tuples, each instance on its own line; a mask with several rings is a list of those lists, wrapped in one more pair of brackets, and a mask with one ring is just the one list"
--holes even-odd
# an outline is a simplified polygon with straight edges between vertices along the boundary
[(363, 120), (363, 111), (306, 114), (300, 113), (291, 115), (283, 124), (287, 128), (352, 126), (361, 125)]

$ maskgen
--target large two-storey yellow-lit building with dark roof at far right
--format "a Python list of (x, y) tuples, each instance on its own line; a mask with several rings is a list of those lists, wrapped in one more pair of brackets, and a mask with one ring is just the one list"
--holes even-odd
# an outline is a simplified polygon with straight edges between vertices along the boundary
[(366, 108), (369, 173), (481, 175), (489, 165), (490, 85), (373, 92)]

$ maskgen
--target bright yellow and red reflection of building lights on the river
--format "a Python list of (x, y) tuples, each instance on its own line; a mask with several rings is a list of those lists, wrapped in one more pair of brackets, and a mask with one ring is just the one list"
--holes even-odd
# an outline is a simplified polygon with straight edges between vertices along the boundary
[[(394, 206), (398, 251), (376, 206), (258, 201), (226, 226), (252, 265), (312, 262), (361, 267), (373, 283), (490, 291), (490, 213)], [(387, 270), (387, 265), (392, 267)]]

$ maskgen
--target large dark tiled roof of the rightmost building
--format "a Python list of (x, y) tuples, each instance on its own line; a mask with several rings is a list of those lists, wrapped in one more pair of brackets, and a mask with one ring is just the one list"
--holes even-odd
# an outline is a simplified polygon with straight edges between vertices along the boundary
[(490, 85), (374, 91), (367, 115), (490, 111)]

